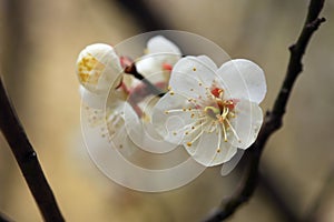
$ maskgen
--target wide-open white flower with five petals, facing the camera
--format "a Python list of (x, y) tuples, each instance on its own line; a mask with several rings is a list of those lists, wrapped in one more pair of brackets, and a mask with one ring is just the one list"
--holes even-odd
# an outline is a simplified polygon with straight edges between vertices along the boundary
[(205, 56), (186, 57), (175, 64), (153, 122), (167, 142), (183, 144), (200, 164), (222, 164), (254, 143), (265, 93), (264, 72), (252, 61), (232, 60), (218, 69)]

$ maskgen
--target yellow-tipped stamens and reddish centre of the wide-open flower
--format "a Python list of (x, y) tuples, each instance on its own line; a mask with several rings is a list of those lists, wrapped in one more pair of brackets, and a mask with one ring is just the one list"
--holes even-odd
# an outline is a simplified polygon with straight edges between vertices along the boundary
[[(203, 87), (202, 82), (198, 82)], [(169, 94), (175, 95), (175, 92), (169, 88)], [(220, 152), (222, 141), (227, 142), (228, 133), (240, 142), (240, 139), (230, 122), (232, 118), (236, 118), (235, 107), (237, 99), (224, 99), (224, 89), (217, 88), (213, 84), (212, 88), (205, 88), (206, 97), (198, 94), (196, 98), (188, 98), (189, 107), (181, 109), (165, 110), (166, 114), (177, 112), (189, 112), (193, 122), (184, 125), (183, 129), (176, 129), (173, 134), (177, 135), (179, 132), (185, 133), (185, 144), (191, 147), (203, 133), (216, 133), (218, 135), (217, 152)], [(191, 92), (195, 90), (191, 88)], [(181, 95), (186, 97), (186, 95)]]

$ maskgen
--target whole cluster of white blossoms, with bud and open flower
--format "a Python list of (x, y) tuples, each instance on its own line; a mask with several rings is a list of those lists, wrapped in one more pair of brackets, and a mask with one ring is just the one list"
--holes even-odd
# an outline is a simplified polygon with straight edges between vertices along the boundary
[[(130, 65), (135, 74), (125, 71)], [(90, 125), (128, 155), (181, 147), (214, 167), (249, 148), (263, 122), (266, 82), (257, 64), (234, 59), (217, 67), (207, 56), (183, 57), (163, 36), (149, 39), (139, 59), (91, 44), (78, 57), (77, 75)]]

